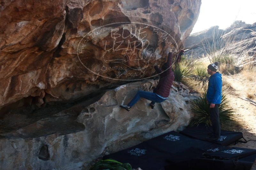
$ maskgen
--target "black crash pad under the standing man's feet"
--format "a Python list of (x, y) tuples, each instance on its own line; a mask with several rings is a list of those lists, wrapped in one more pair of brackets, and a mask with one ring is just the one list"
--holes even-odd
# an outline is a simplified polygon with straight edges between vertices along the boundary
[[(198, 126), (188, 127), (185, 130), (181, 131), (180, 133), (191, 138), (196, 138), (196, 139), (206, 141), (206, 138), (210, 137), (208, 133), (211, 133), (211, 132), (213, 132), (212, 126), (206, 126), (205, 124), (198, 124)], [(212, 143), (227, 146), (241, 138), (243, 138), (242, 132), (221, 130), (221, 137), (217, 141), (212, 141)]]

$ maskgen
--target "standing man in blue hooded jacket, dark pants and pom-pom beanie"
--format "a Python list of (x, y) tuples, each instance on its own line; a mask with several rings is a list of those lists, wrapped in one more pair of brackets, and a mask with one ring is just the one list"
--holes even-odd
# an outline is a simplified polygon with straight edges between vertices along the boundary
[(221, 136), (221, 126), (219, 118), (219, 106), (221, 104), (221, 87), (222, 80), (221, 74), (217, 72), (218, 62), (210, 64), (208, 66), (207, 72), (210, 74), (208, 89), (206, 93), (207, 103), (210, 106), (210, 115), (213, 125), (213, 135), (209, 138), (206, 138), (208, 141), (217, 140)]

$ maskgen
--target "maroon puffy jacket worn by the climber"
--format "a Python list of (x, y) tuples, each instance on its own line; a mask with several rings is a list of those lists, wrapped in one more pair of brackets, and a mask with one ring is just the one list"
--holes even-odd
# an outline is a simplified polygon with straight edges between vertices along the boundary
[[(172, 65), (172, 60), (173, 60), (172, 53), (169, 53), (167, 63), (165, 63), (162, 68), (167, 69), (168, 67), (170, 67)], [(161, 74), (160, 74), (159, 83), (158, 83), (157, 87), (153, 90), (153, 92), (158, 94), (159, 96), (168, 97), (170, 94), (170, 89), (173, 84), (174, 73), (173, 73), (171, 67), (168, 68), (164, 72), (158, 66), (155, 66), (154, 68), (158, 74), (159, 73), (161, 73)]]

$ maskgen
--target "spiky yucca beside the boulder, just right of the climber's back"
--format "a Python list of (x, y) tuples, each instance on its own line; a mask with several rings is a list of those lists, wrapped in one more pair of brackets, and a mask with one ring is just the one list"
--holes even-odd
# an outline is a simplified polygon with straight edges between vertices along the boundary
[(185, 81), (193, 75), (192, 64), (190, 60), (183, 60), (174, 66), (175, 81)]

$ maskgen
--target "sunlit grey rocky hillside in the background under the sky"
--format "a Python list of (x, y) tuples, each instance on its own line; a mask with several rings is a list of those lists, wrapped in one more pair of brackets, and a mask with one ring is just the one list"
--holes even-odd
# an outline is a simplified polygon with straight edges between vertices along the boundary
[[(213, 30), (211, 27), (208, 30)], [(215, 27), (217, 29), (217, 27)], [(211, 31), (212, 35), (207, 41), (200, 37), (201, 33), (207, 30), (192, 34), (185, 41), (185, 49), (190, 48), (185, 54), (193, 57), (201, 57), (206, 51), (216, 45), (221, 53), (233, 55), (238, 64), (244, 63), (244, 57), (251, 57), (256, 61), (256, 26), (255, 24), (245, 24), (242, 21), (235, 21), (230, 27), (223, 30)], [(216, 34), (219, 32), (219, 34)], [(208, 35), (207, 34), (207, 35)], [(195, 35), (196, 36), (195, 38)], [(196, 44), (197, 46), (195, 46)], [(209, 48), (210, 47), (210, 48)], [(211, 51), (211, 50), (209, 50)], [(216, 50), (215, 50), (216, 51)]]

